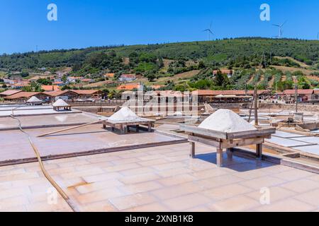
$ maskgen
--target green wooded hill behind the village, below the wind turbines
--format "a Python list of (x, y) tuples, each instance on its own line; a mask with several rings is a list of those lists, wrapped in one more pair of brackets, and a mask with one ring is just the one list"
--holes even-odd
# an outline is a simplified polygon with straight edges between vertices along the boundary
[[(275, 66), (273, 69), (267, 69)], [(45, 67), (53, 73), (61, 67), (72, 67), (71, 74), (103, 80), (103, 73), (137, 73), (148, 81), (167, 81), (181, 73), (199, 71), (192, 82), (211, 76), (213, 69), (234, 69), (230, 85), (261, 85), (290, 81), (298, 69), (319, 69), (319, 41), (243, 37), (211, 42), (179, 42), (118, 47), (53, 50), (4, 54), (0, 71), (37, 72)], [(293, 69), (286, 71), (280, 69)], [(301, 73), (302, 74), (302, 73)], [(319, 73), (318, 73), (319, 74)], [(180, 81), (184, 81), (180, 79)], [(185, 81), (184, 81), (185, 82)], [(308, 81), (308, 83), (314, 81)], [(194, 86), (194, 85), (193, 85)], [(205, 88), (209, 84), (206, 84)], [(184, 85), (185, 87), (185, 85)], [(211, 87), (211, 86), (209, 86)], [(194, 87), (196, 88), (196, 87)]]

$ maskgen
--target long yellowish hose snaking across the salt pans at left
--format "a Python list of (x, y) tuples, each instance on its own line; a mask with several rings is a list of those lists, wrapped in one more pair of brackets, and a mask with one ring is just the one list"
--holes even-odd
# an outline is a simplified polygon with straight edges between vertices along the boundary
[[(14, 109), (18, 109), (19, 107), (16, 107)], [(32, 141), (32, 138), (31, 136), (22, 129), (22, 126), (21, 126), (21, 121), (20, 119), (14, 117), (14, 114), (13, 114), (13, 110), (12, 109), (12, 114), (11, 114), (11, 118), (13, 119), (16, 119), (18, 121), (18, 126), (19, 126), (19, 129), (21, 132), (23, 132), (24, 134), (26, 134), (26, 136), (28, 136), (28, 141), (30, 142), (30, 145), (31, 147), (33, 148), (34, 152), (35, 152), (35, 155), (37, 156), (38, 158), (38, 162), (39, 162), (39, 165), (40, 165), (40, 169), (41, 171), (43, 172), (43, 174), (45, 175), (45, 178), (50, 182), (50, 184), (52, 184), (52, 186), (55, 187), (55, 189), (57, 189), (57, 192), (59, 192), (59, 194), (62, 196), (62, 198), (67, 202), (67, 204), (69, 205), (69, 207), (74, 211), (74, 212), (77, 212), (77, 207), (74, 206), (74, 204), (72, 203), (72, 201), (69, 199), (69, 196), (67, 196), (67, 194), (65, 193), (65, 191), (63, 191), (63, 189), (55, 182), (55, 180), (50, 176), (50, 174), (47, 173), (47, 170), (45, 169), (44, 165), (43, 165), (43, 161), (41, 159), (41, 156), (40, 156), (40, 153), (38, 151), (38, 148), (35, 146), (35, 144), (33, 143)]]

